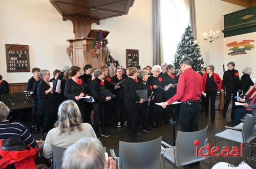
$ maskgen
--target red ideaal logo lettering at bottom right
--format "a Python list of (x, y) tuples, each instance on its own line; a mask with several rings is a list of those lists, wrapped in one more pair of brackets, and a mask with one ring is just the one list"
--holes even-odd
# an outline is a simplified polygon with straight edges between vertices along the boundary
[[(201, 156), (205, 157), (205, 156), (210, 156), (210, 154), (214, 157), (218, 157), (218, 156), (223, 156), (223, 157), (228, 157), (228, 156), (232, 156), (232, 157), (238, 157), (239, 156), (239, 147), (232, 147), (231, 151), (229, 147), (222, 147), (222, 149), (220, 149), (219, 147), (215, 146), (210, 148), (210, 144), (207, 144), (207, 147), (203, 146), (198, 150), (198, 146), (200, 145), (199, 140), (195, 140), (194, 145), (196, 146), (196, 156), (198, 156), (198, 152)], [(206, 153), (203, 154), (203, 150), (206, 150)], [(219, 152), (221, 151), (221, 152)], [(243, 156), (243, 144), (240, 144), (240, 156)]]

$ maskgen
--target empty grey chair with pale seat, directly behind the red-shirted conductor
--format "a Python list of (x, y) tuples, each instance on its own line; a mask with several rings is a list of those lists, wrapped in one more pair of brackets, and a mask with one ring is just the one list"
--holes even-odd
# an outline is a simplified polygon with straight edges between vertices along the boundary
[[(175, 167), (191, 164), (194, 162), (202, 161), (208, 156), (201, 156), (199, 149), (203, 146), (207, 146), (207, 129), (208, 126), (200, 131), (193, 132), (177, 132), (176, 146), (170, 146), (162, 141), (162, 154), (164, 158), (175, 164)], [(194, 145), (195, 140), (199, 140), (200, 145), (198, 146), (198, 156), (196, 156), (196, 146)], [(203, 151), (204, 154), (206, 152)], [(210, 158), (209, 158), (210, 160)], [(211, 160), (210, 160), (211, 165)]]

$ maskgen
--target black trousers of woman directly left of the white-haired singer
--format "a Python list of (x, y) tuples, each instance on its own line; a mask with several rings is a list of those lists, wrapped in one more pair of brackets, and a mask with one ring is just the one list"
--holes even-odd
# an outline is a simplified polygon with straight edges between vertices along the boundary
[(143, 102), (142, 106), (139, 111), (139, 127), (140, 128), (147, 128), (147, 119), (148, 119), (148, 111), (149, 111), (149, 105), (148, 102)]

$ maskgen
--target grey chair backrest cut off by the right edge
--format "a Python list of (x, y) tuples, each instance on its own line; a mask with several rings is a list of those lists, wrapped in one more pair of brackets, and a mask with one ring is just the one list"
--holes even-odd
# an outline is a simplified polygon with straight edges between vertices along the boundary
[(243, 140), (244, 143), (248, 144), (256, 136), (255, 129), (256, 116), (246, 116), (243, 124)]

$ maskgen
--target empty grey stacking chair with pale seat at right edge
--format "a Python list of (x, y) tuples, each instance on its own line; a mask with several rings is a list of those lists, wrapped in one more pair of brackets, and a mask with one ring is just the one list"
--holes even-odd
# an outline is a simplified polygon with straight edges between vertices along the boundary
[[(246, 147), (250, 146), (251, 148), (256, 147), (255, 143), (251, 141), (256, 137), (256, 128), (255, 128), (256, 116), (246, 116), (244, 123), (240, 123), (234, 127), (228, 127), (226, 130), (215, 134), (215, 145), (222, 139), (227, 139), (232, 142), (238, 142), (243, 144), (243, 156), (246, 159), (256, 161), (255, 157), (248, 156), (246, 153)], [(221, 139), (217, 140), (216, 138), (220, 137)]]

